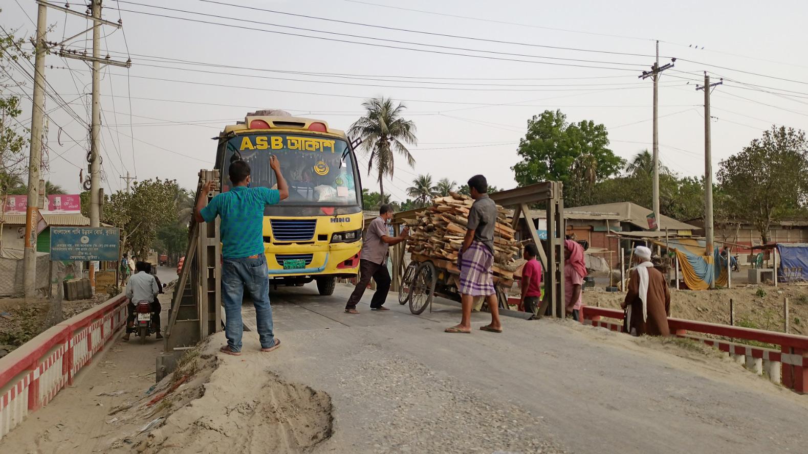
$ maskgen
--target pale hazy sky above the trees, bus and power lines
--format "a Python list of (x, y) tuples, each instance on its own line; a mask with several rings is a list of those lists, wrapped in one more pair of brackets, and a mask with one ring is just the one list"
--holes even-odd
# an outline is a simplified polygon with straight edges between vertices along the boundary
[[(410, 148), (415, 169), (397, 157), (395, 175), (385, 181), (393, 200), (406, 198), (415, 174), (463, 183), (470, 175), (483, 173), (498, 187), (514, 187), (510, 167), (518, 161), (516, 144), (524, 136), (526, 121), (545, 109), (561, 109), (570, 121), (605, 124), (611, 149), (630, 158), (650, 149), (651, 82), (638, 75), (654, 61), (654, 40), (660, 40), (663, 64), (670, 57), (679, 59), (660, 82), (662, 163), (680, 174), (702, 175), (704, 95), (694, 84), (703, 82), (704, 70), (710, 72), (711, 82), (725, 78), (711, 99), (716, 170), (722, 158), (738, 152), (772, 124), (806, 128), (808, 63), (801, 58), (808, 48), (804, 23), (808, 2), (771, 5), (105, 0), (104, 18), (116, 22), (120, 17), (124, 32), (104, 27), (108, 36), (102, 56), (108, 49), (117, 59), (131, 56), (133, 65), (128, 70), (115, 66), (103, 70), (104, 186), (107, 191), (125, 187), (119, 177), (128, 171), (138, 179), (177, 179), (184, 187), (193, 187), (198, 170), (213, 167), (216, 144), (210, 138), (225, 124), (243, 120), (247, 111), (281, 108), (347, 129), (361, 115), (362, 99), (381, 95), (403, 100), (418, 127), (419, 144)], [(80, 11), (82, 6), (74, 4), (73, 9)], [(6, 31), (30, 36), (35, 30), (32, 22), (36, 2), (2, 1), (0, 24)], [(87, 27), (84, 19), (55, 10), (48, 11), (48, 24), (53, 25), (48, 40), (62, 40)], [(71, 43), (71, 48), (79, 49), (91, 45), (83, 37)], [(431, 52), (423, 52), (427, 50)], [(458, 53), (466, 56), (452, 55)], [(48, 56), (47, 64), (48, 82), (89, 122), (87, 66), (57, 55)], [(31, 65), (23, 65), (32, 73)], [(31, 86), (29, 80), (24, 90), (30, 93)], [(28, 124), (30, 101), (24, 105)], [(89, 149), (86, 126), (53, 99), (47, 99), (47, 108), (53, 120), (47, 178), (68, 192), (78, 192), (78, 172), (86, 168)], [(361, 154), (359, 158), (360, 166), (367, 162)], [(373, 177), (365, 177), (363, 184), (377, 188)]]

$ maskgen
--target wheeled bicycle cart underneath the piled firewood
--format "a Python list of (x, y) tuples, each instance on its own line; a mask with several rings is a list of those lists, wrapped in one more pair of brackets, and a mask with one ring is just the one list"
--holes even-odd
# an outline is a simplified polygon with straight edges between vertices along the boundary
[[(432, 300), (442, 296), (448, 300), (461, 301), (460, 270), (448, 260), (431, 259), (424, 255), (412, 254), (412, 261), (402, 276), (401, 288), (398, 290), (398, 302), (410, 304), (410, 312), (415, 315), (423, 313), (427, 306), (432, 312)], [(513, 280), (494, 276), (494, 288), (500, 309), (508, 309), (507, 289)]]

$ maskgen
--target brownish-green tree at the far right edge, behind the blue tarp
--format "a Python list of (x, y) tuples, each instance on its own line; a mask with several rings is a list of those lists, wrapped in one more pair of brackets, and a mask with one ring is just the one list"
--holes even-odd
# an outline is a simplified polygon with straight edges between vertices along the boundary
[(773, 221), (806, 208), (808, 141), (805, 132), (772, 126), (738, 154), (718, 164), (727, 211), (751, 221), (768, 242)]

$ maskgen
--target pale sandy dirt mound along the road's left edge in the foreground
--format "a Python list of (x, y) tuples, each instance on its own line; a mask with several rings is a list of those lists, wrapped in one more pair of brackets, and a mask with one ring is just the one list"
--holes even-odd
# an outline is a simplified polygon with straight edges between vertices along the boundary
[[(217, 345), (189, 351), (148, 395), (113, 409), (107, 452), (297, 453), (331, 436), (327, 393), (280, 380), (262, 361), (217, 354)], [(219, 367), (228, 361), (238, 367)]]

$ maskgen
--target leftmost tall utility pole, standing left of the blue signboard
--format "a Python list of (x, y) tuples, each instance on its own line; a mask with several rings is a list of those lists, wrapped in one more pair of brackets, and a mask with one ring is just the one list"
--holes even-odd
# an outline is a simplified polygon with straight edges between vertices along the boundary
[(36, 292), (36, 225), (39, 223), (40, 160), (42, 155), (42, 119), (45, 103), (45, 54), (48, 10), (41, 5), (36, 13), (36, 60), (34, 96), (31, 109), (31, 148), (28, 153), (28, 200), (25, 209), (25, 248), (23, 250), (23, 290), (31, 301)]

